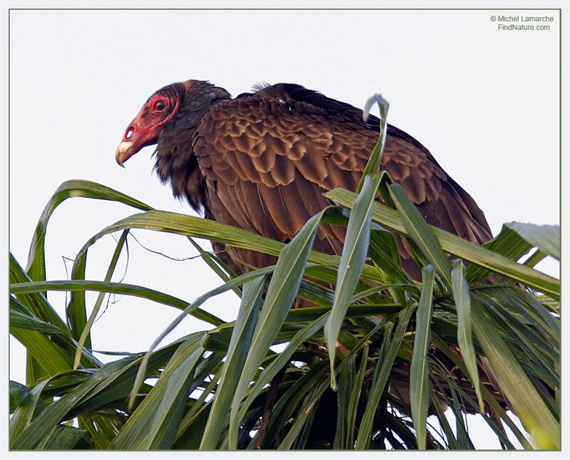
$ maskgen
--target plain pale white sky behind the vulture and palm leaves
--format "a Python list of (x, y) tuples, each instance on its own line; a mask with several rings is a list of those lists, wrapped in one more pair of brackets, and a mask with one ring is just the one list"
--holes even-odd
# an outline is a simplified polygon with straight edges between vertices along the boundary
[[(153, 147), (126, 169), (113, 157), (147, 97), (190, 78), (232, 95), (259, 81), (300, 83), (357, 107), (382, 93), (388, 122), (432, 152), (480, 205), (493, 234), (507, 221), (558, 224), (557, 12), (549, 12), (549, 31), (499, 31), (492, 14), (501, 12), (11, 11), (10, 249), (25, 266), (41, 211), (68, 179), (191, 214), (152, 174)], [(71, 262), (63, 257), (134, 212), (88, 199), (61, 205), (48, 226), (48, 279), (66, 278)], [(183, 237), (133, 234), (154, 251), (195, 256)], [(88, 278), (103, 278), (114, 245), (107, 236), (90, 250)], [(556, 263), (540, 267), (557, 276)], [(124, 272), (123, 256), (114, 280)], [(189, 302), (220, 283), (199, 259), (171, 261), (132, 240), (124, 281)], [(88, 295), (91, 305), (95, 297)], [(49, 300), (63, 316), (65, 294)], [(115, 300), (93, 328), (96, 350), (146, 350), (178, 313), (128, 296)], [(227, 294), (204, 308), (232, 320), (238, 306)], [(188, 318), (169, 339), (204, 328)], [(11, 379), (24, 382), (21, 350), (12, 340)], [(488, 441), (482, 435), (480, 446), (496, 446)]]

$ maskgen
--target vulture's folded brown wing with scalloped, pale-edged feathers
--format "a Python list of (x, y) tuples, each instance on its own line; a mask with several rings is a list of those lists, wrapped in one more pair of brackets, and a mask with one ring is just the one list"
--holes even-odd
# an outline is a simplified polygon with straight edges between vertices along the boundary
[[(273, 85), (219, 103), (192, 141), (207, 207), (218, 221), (291, 239), (326, 207), (323, 192), (356, 189), (378, 139), (376, 120), (363, 122), (361, 110), (299, 85)], [(383, 168), (430, 224), (475, 243), (491, 237), (471, 197), (425, 147), (395, 127), (388, 131)], [(344, 229), (322, 225), (314, 248), (340, 254), (343, 240)], [(411, 262), (403, 239), (398, 246)], [(417, 268), (410, 271), (418, 276)]]

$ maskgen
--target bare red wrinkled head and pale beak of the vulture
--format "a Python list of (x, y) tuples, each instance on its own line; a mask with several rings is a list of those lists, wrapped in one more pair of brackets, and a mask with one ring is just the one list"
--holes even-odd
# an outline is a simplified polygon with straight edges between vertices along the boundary
[(186, 89), (184, 84), (174, 83), (157, 90), (148, 98), (134, 120), (129, 123), (123, 140), (115, 151), (115, 160), (120, 166), (142, 147), (158, 142), (160, 131), (176, 115)]

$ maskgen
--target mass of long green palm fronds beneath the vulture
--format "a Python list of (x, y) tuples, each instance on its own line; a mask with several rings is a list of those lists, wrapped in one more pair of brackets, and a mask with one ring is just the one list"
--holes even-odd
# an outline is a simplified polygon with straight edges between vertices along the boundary
[[(380, 131), (383, 132), (386, 126), (385, 114), (381, 119), (384, 127)], [(361, 185), (371, 180), (371, 173), (378, 171), (381, 162), (380, 147), (381, 139), (368, 162)], [(418, 446), (427, 449), (447, 446), (472, 449), (463, 412), (467, 409), (481, 409), (483, 402), (487, 410), (492, 409), (512, 429), (525, 449), (532, 449), (502, 407), (505, 396), (509, 409), (522, 417), (524, 426), (532, 432), (539, 447), (554, 449), (559, 446), (557, 429), (560, 417), (561, 310), (560, 303), (552, 300), (558, 296), (559, 281), (532, 270), (532, 266), (544, 258), (546, 253), (556, 255), (558, 251), (559, 254), (559, 244), (556, 246), (559, 230), (515, 224), (524, 227), (522, 234), (530, 232), (531, 235), (519, 236), (517, 231), (506, 224), (496, 239), (481, 248), (432, 226), (420, 229), (423, 219), (415, 219), (418, 216), (413, 215), (413, 205), (405, 211), (404, 208), (410, 204), (406, 202), (405, 196), (400, 197), (403, 206), (400, 203), (398, 210), (390, 209), (396, 206), (397, 200), (392, 198), (388, 190), (398, 189), (390, 185), (390, 182), (388, 174), (380, 174), (378, 191), (388, 206), (371, 204), (371, 220), (375, 222), (370, 222), (370, 241), (363, 244), (363, 247), (356, 248), (364, 253), (364, 257), (368, 255), (375, 265), (363, 264), (361, 273), (354, 276), (356, 285), (347, 288), (348, 293), (342, 294), (346, 297), (343, 300), (345, 310), (341, 315), (336, 341), (351, 351), (346, 355), (341, 350), (337, 352), (335, 347), (333, 352), (337, 355), (336, 363), (333, 360), (326, 362), (328, 358), (323, 348), (330, 345), (329, 338), (323, 336), (323, 325), (331, 321), (331, 304), (338, 301), (336, 296), (341, 296), (339, 293), (333, 296), (329, 287), (336, 286), (339, 279), (336, 267), (341, 266), (341, 271), (350, 273), (354, 264), (351, 266), (347, 263), (343, 267), (344, 261), (338, 256), (310, 251), (311, 244), (307, 241), (306, 246), (299, 243), (296, 249), (289, 250), (289, 255), (285, 257), (288, 259), (286, 263), (290, 264), (289, 272), (282, 269), (278, 273), (276, 267), (267, 267), (235, 277), (215, 255), (201, 250), (202, 258), (224, 280), (224, 284), (200, 296), (192, 304), (142, 286), (111, 283), (112, 268), (106, 278), (108, 282), (86, 281), (90, 246), (103, 235), (113, 231), (124, 231), (126, 234), (130, 228), (185, 235), (192, 244), (192, 236), (206, 237), (274, 256), (279, 255), (285, 246), (232, 226), (150, 210), (145, 204), (98, 184), (84, 181), (63, 184), (38, 222), (28, 258), (30, 276), (14, 257), (10, 257), (11, 333), (28, 347), (28, 387), (11, 382), (10, 448), (108, 449), (115, 439), (115, 447), (130, 443), (133, 448), (198, 449), (200, 441), (204, 443), (204, 433), (208, 437), (206, 444), (214, 446), (213, 448), (227, 449), (235, 446), (242, 449), (248, 444), (252, 447), (257, 443), (259, 434), (252, 439), (250, 433), (257, 429), (256, 423), (264, 412), (268, 395), (266, 386), (280, 370), (286, 372), (279, 387), (272, 387), (278, 388), (278, 392), (269, 426), (264, 427), (266, 434), (263, 447), (314, 448), (321, 445), (315, 441), (314, 434), (318, 431), (319, 424), (326, 422), (324, 417), (327, 411), (321, 403), (328, 402), (328, 386), (331, 381), (327, 371), (329, 366), (333, 369), (333, 375), (338, 377), (339, 388), (336, 437), (333, 441), (335, 433), (331, 433), (328, 441), (334, 442), (334, 446), (340, 449), (352, 449), (355, 446), (358, 449), (383, 448), (384, 442), (396, 449), (416, 449)], [(363, 187), (363, 192), (365, 188)], [(348, 204), (337, 201), (348, 207), (356, 197), (355, 194), (342, 190), (330, 192), (331, 196), (335, 194)], [(71, 281), (45, 281), (43, 245), (48, 220), (58, 204), (73, 196), (115, 200), (147, 211), (122, 219), (93, 236), (76, 258)], [(352, 219), (354, 224), (356, 211), (357, 209), (349, 212), (348, 209), (329, 207), (318, 219), (321, 219), (321, 224), (340, 225)], [(318, 222), (314, 224), (315, 227), (318, 226)], [(454, 253), (465, 261), (470, 261), (467, 271), (458, 266), (457, 262), (453, 265), (450, 272), (450, 293), (453, 298), (447, 295), (447, 291), (437, 291), (438, 297), (435, 299), (425, 294), (421, 296), (420, 284), (412, 281), (403, 271), (394, 237), (388, 231), (407, 235), (413, 233), (410, 228), (419, 235), (415, 239), (410, 236), (410, 244), (420, 263), (428, 258), (427, 255), (437, 261), (438, 250), (446, 260), (446, 253)], [(533, 244), (539, 249), (523, 264), (517, 263)], [(285, 254), (286, 251), (281, 256)], [(115, 252), (115, 261), (111, 261), (111, 266), (116, 262), (116, 256), (118, 252)], [(296, 265), (294, 259), (300, 256), (303, 260)], [(442, 259), (440, 262), (444, 265)], [(281, 265), (284, 265), (284, 261), (281, 261)], [(441, 271), (445, 272), (445, 268), (441, 268)], [(492, 276), (491, 271), (502, 276)], [(248, 355), (248, 347), (245, 345), (254, 328), (255, 316), (253, 311), (248, 313), (247, 309), (248, 306), (251, 307), (247, 302), (249, 293), (252, 293), (249, 288), (243, 293), (244, 307), (237, 323), (224, 323), (199, 307), (207, 298), (228, 290), (234, 290), (242, 296), (242, 285), (256, 283), (256, 278), (259, 281), (268, 275), (271, 276), (271, 284), (276, 291), (271, 294), (274, 309), (266, 311), (268, 305), (261, 309), (261, 317), (266, 315), (265, 325), (261, 327), (260, 322), (254, 329), (252, 348), (257, 339), (257, 350), (254, 350), (254, 356), (251, 350)], [(305, 280), (300, 279), (302, 276), (305, 276)], [(484, 278), (487, 278), (485, 283), (472, 283)], [(467, 281), (472, 286), (468, 286)], [(502, 286), (494, 286), (492, 283), (502, 283)], [(437, 287), (439, 286), (438, 281)], [(427, 289), (425, 279), (421, 287)], [(254, 298), (261, 295), (260, 289), (261, 285)], [(61, 318), (48, 303), (46, 292), (49, 290), (72, 293), (65, 318)], [(116, 355), (128, 355), (127, 358), (102, 365), (88, 350), (90, 343), (84, 295), (86, 290), (99, 292), (100, 299), (104, 293), (110, 292), (149, 298), (179, 308), (182, 313), (151, 345), (151, 352), (135, 355), (116, 350), (102, 351), (108, 359), (115, 359)], [(550, 298), (536, 296), (535, 291), (541, 291)], [(318, 306), (289, 310), (295, 296)], [(413, 314), (415, 304), (406, 305), (410, 305), (418, 296), (420, 308), (414, 326), (410, 325), (410, 315)], [(426, 313), (423, 301), (432, 304), (431, 322), (423, 318)], [(95, 311), (97, 309), (95, 305)], [(471, 314), (469, 310), (472, 310)], [(160, 340), (187, 314), (209, 321), (216, 328), (206, 334), (200, 332), (176, 340), (154, 351)], [(240, 323), (242, 319), (245, 324)], [(390, 324), (388, 327), (387, 323)], [(469, 332), (470, 327), (472, 333)], [(415, 342), (412, 347), (410, 339), (414, 337), (414, 329)], [(85, 346), (78, 347), (77, 341), (81, 338), (82, 331)], [(430, 358), (428, 368), (424, 347), (430, 343), (430, 333), (431, 343), (437, 348), (436, 353), (442, 352), (447, 359), (436, 359), (436, 354)], [(383, 347), (378, 355), (376, 344), (380, 340), (383, 340)], [(214, 342), (214, 352), (204, 352), (207, 343)], [(284, 342), (283, 351), (269, 350), (271, 344)], [(370, 357), (367, 357), (368, 345)], [(461, 355), (457, 353), (457, 345)], [(76, 350), (81, 350), (83, 369), (71, 371), (70, 360)], [(226, 356), (227, 350), (229, 352)], [(485, 382), (484, 385), (477, 382), (475, 352), (482, 358), (489, 359), (489, 367), (499, 381), (498, 385), (494, 381), (492, 384)], [(411, 391), (411, 407), (402, 404), (392, 394), (391, 390), (397, 392), (396, 387), (388, 391), (396, 357), (399, 360), (413, 361), (410, 378), (414, 380), (412, 387), (418, 386), (419, 390)], [(377, 361), (374, 377), (369, 382), (367, 371), (370, 369), (367, 369), (367, 362), (370, 365), (374, 360)], [(360, 362), (358, 372), (356, 362)], [(241, 363), (244, 365), (240, 366)], [(230, 367), (230, 371), (226, 371)], [(240, 377), (240, 367), (248, 375)], [(450, 375), (451, 367), (457, 370), (453, 375)], [(435, 431), (430, 432), (425, 430), (425, 426), (417, 426), (418, 420), (425, 421), (422, 414), (427, 403), (422, 402), (420, 392), (424, 389), (418, 382), (423, 382), (421, 377), (427, 374), (427, 370), (430, 372), (427, 389), (429, 391), (431, 383), (437, 391), (437, 394), (432, 393), (432, 404), (443, 429), (442, 441), (435, 438)], [(465, 382), (456, 380), (459, 373), (472, 380), (475, 391), (465, 387)], [(143, 383), (149, 377), (160, 377), (154, 387)], [(239, 389), (242, 394), (236, 401), (234, 390), (239, 385), (242, 385)], [(497, 390), (499, 387), (500, 392)], [(493, 393), (489, 390), (493, 390)], [(131, 406), (128, 407), (130, 391), (133, 394)], [(212, 395), (214, 398), (210, 399)], [(440, 402), (444, 401), (450, 404), (456, 417), (457, 437), (440, 407)], [(230, 402), (234, 403), (231, 408)], [(388, 408), (385, 402), (388, 402)], [(212, 407), (216, 404), (219, 407), (213, 411)], [(390, 406), (398, 412), (390, 413), (393, 410)], [(357, 408), (358, 411), (363, 408), (364, 413), (358, 412)], [(232, 427), (229, 426), (230, 414), (234, 423)], [(355, 427), (361, 415), (363, 418), (360, 427)], [(413, 422), (410, 416), (413, 416)], [(492, 418), (487, 414), (482, 417), (492, 428), (494, 436), (507, 449), (512, 448), (499, 427), (500, 423), (496, 422), (497, 417)], [(78, 428), (71, 427), (72, 420), (78, 422)], [(416, 425), (415, 430), (413, 424)], [(230, 429), (234, 430), (232, 437), (229, 436)], [(423, 429), (425, 432), (421, 433)], [(378, 437), (372, 436), (377, 433)]]

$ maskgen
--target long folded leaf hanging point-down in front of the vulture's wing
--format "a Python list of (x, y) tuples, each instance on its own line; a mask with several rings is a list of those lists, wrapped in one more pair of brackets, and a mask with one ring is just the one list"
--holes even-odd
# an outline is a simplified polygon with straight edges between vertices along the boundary
[(326, 346), (328, 354), (331, 356), (331, 387), (333, 390), (336, 390), (335, 372), (333, 372), (336, 337), (338, 331), (341, 330), (348, 304), (351, 302), (366, 260), (368, 240), (370, 239), (372, 204), (379, 182), (380, 173), (376, 173), (372, 177), (365, 177), (362, 191), (354, 202), (346, 229), (346, 239), (336, 278), (333, 308), (325, 325)]

